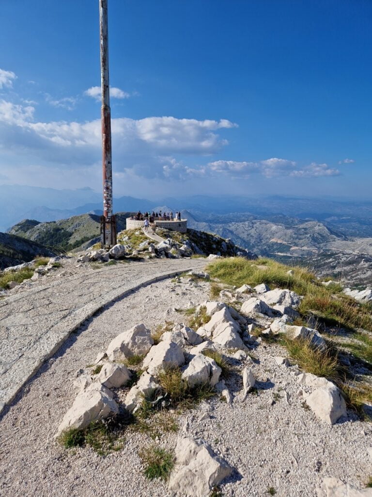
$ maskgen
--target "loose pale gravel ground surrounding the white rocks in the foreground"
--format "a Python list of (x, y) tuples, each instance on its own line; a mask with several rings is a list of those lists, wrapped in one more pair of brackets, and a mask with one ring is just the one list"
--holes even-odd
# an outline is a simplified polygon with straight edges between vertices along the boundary
[[(1, 420), (0, 495), (14, 497), (175, 497), (165, 484), (142, 474), (137, 452), (153, 443), (146, 433), (126, 432), (124, 448), (106, 457), (91, 448), (63, 449), (53, 435), (76, 395), (75, 372), (92, 363), (119, 332), (143, 322), (150, 329), (165, 321), (185, 320), (175, 309), (208, 297), (208, 283), (182, 279), (144, 287), (106, 307), (73, 333), (60, 350), (17, 395)], [(178, 419), (181, 430), (206, 439), (235, 468), (222, 485), (224, 497), (316, 497), (323, 477), (363, 487), (371, 476), (368, 449), (371, 425), (351, 416), (333, 427), (304, 409), (296, 396), (296, 366), (278, 366), (285, 355), (278, 345), (260, 344), (252, 353), (258, 395), (243, 401), (241, 369), (230, 359), (227, 380), (234, 403), (218, 397)], [(288, 394), (288, 402), (286, 400)], [(209, 419), (199, 421), (205, 411)], [(157, 442), (174, 448), (176, 433)], [(181, 497), (181, 496), (177, 496)]]

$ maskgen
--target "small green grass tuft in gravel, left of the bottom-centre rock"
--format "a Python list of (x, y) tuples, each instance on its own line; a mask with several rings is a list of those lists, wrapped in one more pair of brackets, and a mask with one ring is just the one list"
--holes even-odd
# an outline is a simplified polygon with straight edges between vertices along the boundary
[(139, 457), (144, 465), (144, 475), (149, 480), (160, 478), (168, 480), (172, 469), (175, 465), (175, 458), (171, 452), (168, 452), (157, 445), (139, 451)]

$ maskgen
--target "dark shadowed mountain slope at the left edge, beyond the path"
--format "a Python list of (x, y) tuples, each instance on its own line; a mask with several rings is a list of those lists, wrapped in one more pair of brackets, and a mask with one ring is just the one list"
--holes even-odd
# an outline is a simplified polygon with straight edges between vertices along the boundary
[(53, 256), (54, 251), (22, 237), (0, 233), (0, 269), (29, 262), (37, 255)]

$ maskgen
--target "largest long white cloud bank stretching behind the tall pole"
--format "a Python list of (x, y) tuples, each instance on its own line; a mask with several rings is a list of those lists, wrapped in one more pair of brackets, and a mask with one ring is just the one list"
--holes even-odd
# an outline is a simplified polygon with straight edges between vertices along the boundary
[[(17, 157), (19, 166), (74, 164), (82, 168), (100, 160), (101, 121), (50, 121), (34, 118), (35, 107), (0, 100), (0, 148)], [(172, 116), (112, 119), (113, 152), (118, 171), (135, 170), (144, 177), (183, 178), (204, 174), (184, 165), (174, 154), (210, 155), (228, 142), (223, 129), (236, 125), (226, 119), (178, 119)], [(204, 168), (206, 170), (206, 168)]]

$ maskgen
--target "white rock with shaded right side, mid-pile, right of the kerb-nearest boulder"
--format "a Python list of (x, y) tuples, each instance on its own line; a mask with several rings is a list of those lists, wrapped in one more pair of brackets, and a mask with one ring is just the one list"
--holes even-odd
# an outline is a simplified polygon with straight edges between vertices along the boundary
[(143, 360), (143, 368), (147, 369), (148, 373), (156, 375), (161, 369), (182, 366), (184, 363), (185, 356), (182, 348), (177, 343), (162, 341), (151, 347)]

